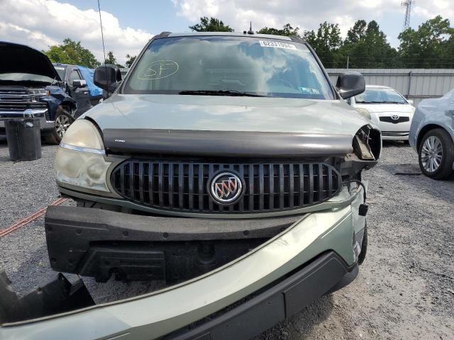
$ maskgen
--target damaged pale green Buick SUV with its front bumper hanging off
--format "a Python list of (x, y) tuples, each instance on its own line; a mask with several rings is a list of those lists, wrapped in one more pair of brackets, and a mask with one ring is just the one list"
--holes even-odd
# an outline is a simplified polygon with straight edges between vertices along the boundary
[[(55, 271), (165, 288), (39, 319), (43, 338), (249, 339), (354, 280), (380, 130), (299, 38), (161, 33), (55, 157)], [(81, 325), (84, 325), (81, 327)], [(16, 336), (28, 325), (9, 328)], [(7, 338), (5, 338), (7, 339)]]

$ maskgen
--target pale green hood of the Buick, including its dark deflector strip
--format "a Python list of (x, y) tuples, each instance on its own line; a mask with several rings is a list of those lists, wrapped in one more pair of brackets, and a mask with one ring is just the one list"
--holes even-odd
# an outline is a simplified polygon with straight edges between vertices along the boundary
[(344, 101), (239, 96), (116, 94), (85, 116), (107, 152), (206, 157), (341, 156), (370, 124)]

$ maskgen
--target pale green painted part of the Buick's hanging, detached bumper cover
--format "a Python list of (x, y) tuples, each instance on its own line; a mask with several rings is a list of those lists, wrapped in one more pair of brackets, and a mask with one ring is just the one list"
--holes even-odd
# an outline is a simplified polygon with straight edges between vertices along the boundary
[[(360, 191), (353, 195), (353, 204), (362, 199)], [(4, 325), (0, 339), (155, 339), (231, 305), (324, 251), (333, 250), (352, 265), (353, 232), (351, 205), (312, 212), (204, 276), (119, 302)]]

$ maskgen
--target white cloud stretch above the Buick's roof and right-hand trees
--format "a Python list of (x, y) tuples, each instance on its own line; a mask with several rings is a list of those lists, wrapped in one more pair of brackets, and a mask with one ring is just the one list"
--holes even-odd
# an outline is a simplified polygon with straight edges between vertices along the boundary
[[(433, 18), (442, 14), (444, 18), (454, 21), (453, 0), (418, 0), (414, 13), (424, 18)], [(323, 21), (338, 23), (341, 33), (347, 30), (358, 19), (374, 18), (380, 23), (389, 14), (402, 13), (404, 7), (399, 0), (172, 0), (179, 16), (196, 22), (201, 16), (214, 16), (237, 31), (262, 27), (281, 28), (291, 23), (301, 30), (316, 29)]]

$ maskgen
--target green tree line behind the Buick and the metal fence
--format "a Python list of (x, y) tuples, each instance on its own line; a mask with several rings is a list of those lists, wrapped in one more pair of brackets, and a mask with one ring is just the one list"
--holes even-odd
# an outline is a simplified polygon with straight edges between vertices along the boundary
[[(233, 32), (234, 29), (218, 18), (200, 18), (189, 28), (196, 32)], [(454, 68), (454, 28), (441, 16), (429, 19), (417, 29), (408, 28), (399, 34), (399, 47), (392, 47), (377, 21), (358, 20), (343, 39), (337, 23), (321, 23), (317, 30), (300, 32), (287, 23), (282, 28), (264, 27), (256, 33), (297, 36), (309, 42), (328, 68)], [(70, 38), (61, 45), (50, 46), (43, 51), (52, 62), (97, 67), (100, 62), (80, 42)], [(126, 55), (126, 63), (118, 64), (114, 53), (109, 51), (107, 64), (131, 67), (135, 55)]]

